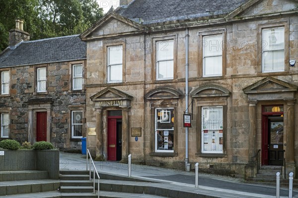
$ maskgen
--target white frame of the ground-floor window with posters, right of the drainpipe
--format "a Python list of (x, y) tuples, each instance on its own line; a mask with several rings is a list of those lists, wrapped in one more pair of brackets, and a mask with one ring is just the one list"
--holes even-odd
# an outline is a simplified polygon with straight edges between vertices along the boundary
[[(213, 135), (209, 135), (209, 131), (211, 131), (211, 132), (213, 132), (213, 131), (219, 131), (219, 133), (216, 133), (215, 134), (215, 137), (214, 138), (216, 138), (216, 140), (217, 140), (217, 138), (220, 138), (219, 137), (219, 135), (220, 135), (220, 130), (222, 130), (222, 133), (223, 134), (221, 134), (222, 135), (222, 138), (224, 138), (224, 129), (223, 129), (223, 120), (218, 120), (218, 121), (212, 121), (212, 124), (214, 124), (213, 126), (217, 126), (217, 127), (215, 127), (215, 128), (212, 128), (212, 129), (209, 129), (209, 128), (204, 128), (204, 124), (206, 123), (206, 120), (204, 119), (204, 109), (205, 108), (214, 108), (214, 107), (220, 107), (220, 108), (222, 108), (222, 119), (224, 119), (224, 106), (222, 106), (222, 105), (219, 105), (219, 106), (202, 106), (201, 108), (202, 108), (202, 113), (201, 113), (201, 118), (202, 118), (202, 126), (201, 126), (201, 151), (202, 151), (202, 153), (218, 153), (218, 154), (223, 154), (224, 153), (224, 148), (223, 148), (223, 144), (221, 144), (221, 146), (222, 146), (222, 150), (220, 151), (220, 150), (204, 150), (204, 143), (205, 143), (205, 139), (204, 139), (204, 130), (206, 131), (206, 130), (208, 130), (208, 139), (210, 138), (209, 136), (211, 136), (211, 141), (212, 141), (212, 138), (213, 138)], [(209, 119), (208, 119), (209, 120)], [(224, 139), (222, 139), (223, 141), (225, 141)], [(208, 145), (208, 147), (209, 147), (209, 141), (207, 141), (207, 145)], [(219, 144), (217, 144), (217, 141), (215, 142), (215, 143), (212, 143), (211, 142), (211, 147), (212, 147), (212, 144), (216, 144), (216, 145), (218, 145), (219, 147), (220, 147), (220, 142), (219, 142)]]

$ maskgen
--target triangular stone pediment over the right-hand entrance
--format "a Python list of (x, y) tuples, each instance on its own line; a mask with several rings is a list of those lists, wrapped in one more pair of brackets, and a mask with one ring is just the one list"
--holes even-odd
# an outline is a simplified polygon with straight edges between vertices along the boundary
[(276, 78), (264, 78), (243, 89), (249, 100), (295, 99), (298, 87)]

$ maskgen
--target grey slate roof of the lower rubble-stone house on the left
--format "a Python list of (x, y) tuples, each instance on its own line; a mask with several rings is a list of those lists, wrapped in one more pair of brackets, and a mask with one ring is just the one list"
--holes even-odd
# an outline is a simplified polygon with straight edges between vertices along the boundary
[(86, 43), (79, 35), (21, 42), (0, 53), (0, 68), (86, 59)]

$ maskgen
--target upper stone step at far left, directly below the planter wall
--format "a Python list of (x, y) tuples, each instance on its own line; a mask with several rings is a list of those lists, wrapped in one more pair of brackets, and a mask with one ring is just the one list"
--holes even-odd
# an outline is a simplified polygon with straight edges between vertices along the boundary
[(0, 182), (48, 179), (47, 171), (0, 171)]

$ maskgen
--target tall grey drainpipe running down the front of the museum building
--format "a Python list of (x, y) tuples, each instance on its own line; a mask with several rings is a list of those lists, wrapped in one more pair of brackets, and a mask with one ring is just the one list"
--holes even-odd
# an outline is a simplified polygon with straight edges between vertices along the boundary
[[(188, 113), (188, 28), (185, 29), (185, 113)], [(188, 163), (188, 128), (185, 127), (185, 171), (190, 171)]]

